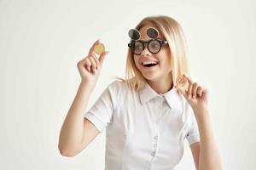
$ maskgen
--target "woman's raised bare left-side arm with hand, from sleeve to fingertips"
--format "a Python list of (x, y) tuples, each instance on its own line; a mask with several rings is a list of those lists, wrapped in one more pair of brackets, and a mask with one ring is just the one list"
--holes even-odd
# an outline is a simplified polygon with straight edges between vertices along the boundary
[(96, 86), (103, 60), (108, 54), (108, 51), (105, 51), (96, 57), (93, 51), (100, 43), (97, 40), (90, 48), (89, 54), (77, 64), (81, 82), (61, 127), (58, 149), (62, 156), (78, 155), (100, 133), (93, 123), (84, 118), (90, 94)]

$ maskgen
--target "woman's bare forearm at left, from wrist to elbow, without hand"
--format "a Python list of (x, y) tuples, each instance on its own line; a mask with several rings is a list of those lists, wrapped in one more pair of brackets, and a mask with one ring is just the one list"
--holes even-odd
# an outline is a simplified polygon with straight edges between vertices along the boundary
[(63, 125), (61, 127), (59, 150), (71, 152), (79, 146), (84, 133), (84, 111), (93, 89), (90, 83), (81, 82)]

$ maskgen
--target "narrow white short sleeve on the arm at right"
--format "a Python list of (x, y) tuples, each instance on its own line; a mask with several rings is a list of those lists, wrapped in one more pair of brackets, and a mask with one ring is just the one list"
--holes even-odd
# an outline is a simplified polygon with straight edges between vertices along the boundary
[(195, 119), (195, 115), (193, 110), (190, 108), (189, 109), (189, 131), (186, 135), (186, 139), (189, 142), (189, 147), (191, 146), (191, 144), (194, 144), (196, 142), (200, 142), (200, 133), (198, 130), (198, 126), (197, 126), (197, 122)]

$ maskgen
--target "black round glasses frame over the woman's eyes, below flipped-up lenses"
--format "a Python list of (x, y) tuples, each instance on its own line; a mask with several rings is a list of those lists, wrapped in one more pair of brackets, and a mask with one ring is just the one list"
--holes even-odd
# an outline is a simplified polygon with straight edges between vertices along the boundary
[[(157, 52), (154, 52), (154, 53), (151, 52), (150, 49), (148, 48), (149, 43), (150, 43), (150, 42), (153, 42), (153, 41), (157, 41), (157, 42), (159, 42), (159, 44), (160, 44), (160, 49), (159, 49)], [(162, 46), (168, 44), (168, 42), (167, 42), (166, 40), (160, 40), (160, 39), (151, 39), (151, 40), (149, 40), (149, 41), (142, 41), (142, 40), (134, 41), (134, 40), (132, 40), (130, 43), (128, 43), (128, 47), (131, 48), (131, 53), (132, 53), (132, 54), (136, 54), (136, 53), (134, 52), (134, 51), (135, 51), (135, 48), (134, 48), (135, 42), (141, 42), (141, 43), (143, 44), (143, 50), (142, 50), (142, 52), (139, 53), (139, 54), (137, 54), (137, 55), (142, 54), (145, 48), (148, 48), (148, 51), (149, 51), (151, 54), (158, 54), (158, 53), (160, 52)], [(145, 43), (147, 43), (147, 47), (145, 47)]]

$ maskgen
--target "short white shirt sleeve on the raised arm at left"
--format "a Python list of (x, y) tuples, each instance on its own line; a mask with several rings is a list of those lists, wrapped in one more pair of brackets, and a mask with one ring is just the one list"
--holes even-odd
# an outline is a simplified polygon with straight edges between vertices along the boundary
[(96, 103), (91, 106), (90, 110), (84, 114), (100, 133), (111, 122), (113, 115), (113, 94), (111, 92), (110, 85), (106, 88), (100, 97), (96, 100)]

